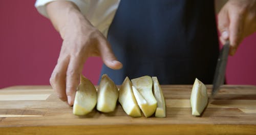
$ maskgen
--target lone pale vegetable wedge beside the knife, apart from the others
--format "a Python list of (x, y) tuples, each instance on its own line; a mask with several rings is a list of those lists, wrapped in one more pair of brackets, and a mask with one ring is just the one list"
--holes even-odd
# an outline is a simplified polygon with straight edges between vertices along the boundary
[(192, 107), (192, 115), (195, 116), (200, 116), (202, 111), (208, 104), (206, 86), (197, 78), (192, 88), (190, 103)]

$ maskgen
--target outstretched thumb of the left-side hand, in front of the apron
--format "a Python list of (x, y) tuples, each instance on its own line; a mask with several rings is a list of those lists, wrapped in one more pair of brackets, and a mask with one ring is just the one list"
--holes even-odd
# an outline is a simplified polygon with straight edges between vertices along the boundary
[(117, 60), (114, 53), (112, 52), (110, 43), (105, 39), (99, 40), (99, 51), (100, 56), (106, 66), (113, 70), (122, 68), (122, 63)]

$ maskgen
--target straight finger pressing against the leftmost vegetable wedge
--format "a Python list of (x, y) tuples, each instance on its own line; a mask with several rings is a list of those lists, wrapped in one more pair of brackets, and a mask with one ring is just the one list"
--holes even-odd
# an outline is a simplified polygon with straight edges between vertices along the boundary
[(66, 94), (70, 106), (74, 104), (75, 93), (79, 84), (84, 61), (80, 57), (71, 57), (67, 69)]

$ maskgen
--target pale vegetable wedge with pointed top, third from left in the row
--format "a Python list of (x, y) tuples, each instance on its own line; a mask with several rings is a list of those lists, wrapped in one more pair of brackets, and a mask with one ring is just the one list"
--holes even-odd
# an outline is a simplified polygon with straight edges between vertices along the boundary
[(119, 103), (125, 113), (132, 117), (141, 117), (140, 108), (133, 94), (132, 82), (126, 77), (119, 89)]

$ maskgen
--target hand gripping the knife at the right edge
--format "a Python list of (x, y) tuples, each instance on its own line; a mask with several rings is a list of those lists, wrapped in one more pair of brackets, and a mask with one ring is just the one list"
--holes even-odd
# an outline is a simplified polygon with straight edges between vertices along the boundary
[(229, 55), (236, 53), (239, 44), (256, 31), (256, 0), (229, 0), (218, 15), (220, 41), (230, 41)]

